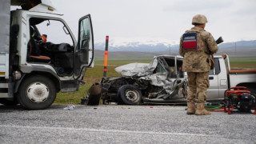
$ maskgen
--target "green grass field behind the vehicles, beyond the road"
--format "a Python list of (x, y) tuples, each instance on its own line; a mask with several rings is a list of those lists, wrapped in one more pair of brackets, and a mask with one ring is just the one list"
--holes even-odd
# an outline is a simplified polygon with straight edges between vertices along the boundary
[[(118, 77), (120, 74), (114, 71), (117, 66), (122, 66), (132, 62), (149, 63), (152, 58), (145, 59), (134, 59), (134, 60), (110, 60), (107, 66), (107, 77)], [(230, 58), (231, 69), (254, 69), (256, 70), (256, 58), (254, 57), (243, 57), (243, 58)], [(95, 82), (100, 82), (103, 76), (103, 61), (98, 60), (94, 63), (94, 68), (90, 68), (86, 71), (84, 81), (86, 85), (80, 86), (79, 90), (70, 93), (58, 93), (54, 103), (65, 103), (65, 104), (78, 104), (81, 102), (81, 98), (87, 95), (87, 90)]]

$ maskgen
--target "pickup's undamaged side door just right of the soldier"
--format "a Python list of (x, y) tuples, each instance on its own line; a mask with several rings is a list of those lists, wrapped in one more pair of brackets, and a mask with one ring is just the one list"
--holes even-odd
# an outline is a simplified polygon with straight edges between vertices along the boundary
[(210, 70), (209, 82), (210, 87), (207, 90), (207, 100), (217, 100), (218, 96), (218, 74), (220, 73), (218, 58), (215, 58), (214, 70)]

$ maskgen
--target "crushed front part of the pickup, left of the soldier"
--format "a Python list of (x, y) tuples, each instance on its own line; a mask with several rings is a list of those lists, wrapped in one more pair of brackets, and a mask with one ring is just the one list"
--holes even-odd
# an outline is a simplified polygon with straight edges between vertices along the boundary
[(130, 63), (115, 70), (119, 78), (102, 78), (102, 102), (138, 105), (184, 101), (186, 73), (180, 56), (155, 56), (150, 63)]

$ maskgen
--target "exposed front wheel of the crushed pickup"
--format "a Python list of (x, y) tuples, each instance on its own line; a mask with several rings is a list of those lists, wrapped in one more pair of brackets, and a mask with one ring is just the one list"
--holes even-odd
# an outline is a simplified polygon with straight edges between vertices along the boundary
[(118, 96), (127, 105), (138, 105), (142, 99), (142, 92), (136, 86), (125, 85), (118, 90)]

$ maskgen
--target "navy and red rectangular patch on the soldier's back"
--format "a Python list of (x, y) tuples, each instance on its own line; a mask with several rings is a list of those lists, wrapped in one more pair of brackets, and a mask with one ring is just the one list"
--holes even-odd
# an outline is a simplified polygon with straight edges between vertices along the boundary
[(183, 49), (184, 50), (196, 50), (197, 46), (197, 33), (183, 34)]

